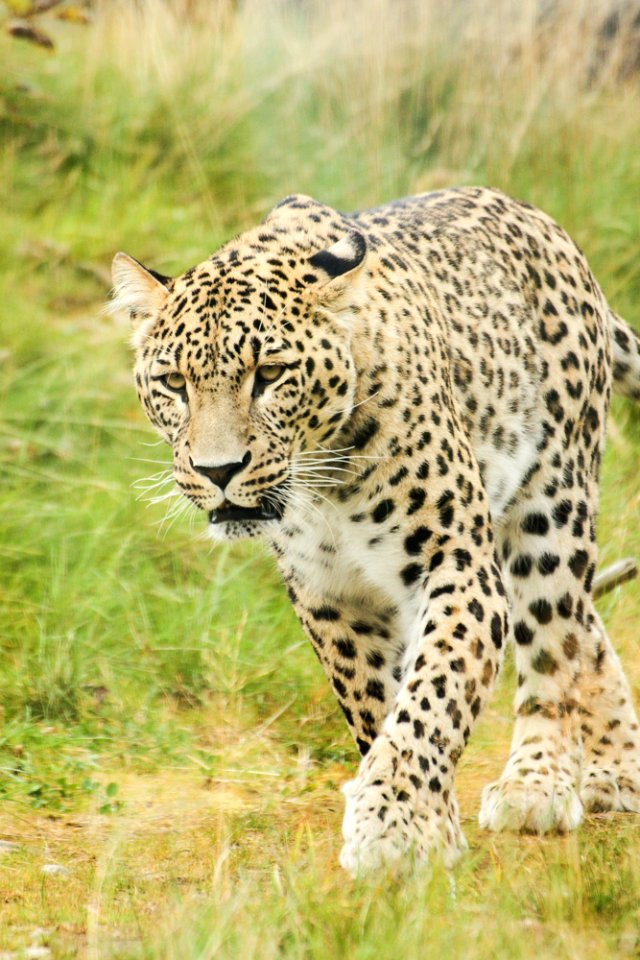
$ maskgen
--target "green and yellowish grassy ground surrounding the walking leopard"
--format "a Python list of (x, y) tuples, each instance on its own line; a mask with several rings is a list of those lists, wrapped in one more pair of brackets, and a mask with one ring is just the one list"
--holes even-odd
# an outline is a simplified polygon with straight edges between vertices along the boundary
[[(0, 38), (0, 956), (638, 956), (637, 818), (475, 826), (509, 666), (460, 764), (462, 865), (344, 878), (356, 758), (324, 678), (259, 547), (137, 499), (167, 454), (100, 312), (115, 250), (182, 270), (294, 190), (488, 183), (559, 219), (640, 326), (623, 33), (603, 52), (578, 4), (177, 6), (52, 21), (51, 53)], [(640, 555), (639, 452), (617, 402), (603, 562)], [(637, 692), (640, 590), (600, 607)]]

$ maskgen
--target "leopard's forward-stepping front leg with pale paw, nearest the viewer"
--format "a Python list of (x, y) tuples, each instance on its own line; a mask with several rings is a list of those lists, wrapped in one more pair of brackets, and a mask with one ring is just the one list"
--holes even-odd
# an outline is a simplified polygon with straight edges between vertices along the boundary
[(432, 555), (402, 683), (371, 750), (345, 787), (350, 873), (405, 854), (450, 866), (465, 846), (454, 793), (457, 761), (498, 672), (507, 605), (490, 556)]

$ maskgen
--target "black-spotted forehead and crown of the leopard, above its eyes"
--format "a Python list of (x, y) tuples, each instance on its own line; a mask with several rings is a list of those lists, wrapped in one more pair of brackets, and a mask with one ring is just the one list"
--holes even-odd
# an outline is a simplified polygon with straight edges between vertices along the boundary
[(312, 261), (344, 233), (335, 218), (322, 229), (315, 220), (311, 226), (299, 218), (261, 226), (172, 280), (142, 340), (142, 358), (173, 358), (189, 365), (197, 380), (228, 378), (261, 351), (309, 349), (331, 327), (317, 310), (318, 286), (327, 275)]

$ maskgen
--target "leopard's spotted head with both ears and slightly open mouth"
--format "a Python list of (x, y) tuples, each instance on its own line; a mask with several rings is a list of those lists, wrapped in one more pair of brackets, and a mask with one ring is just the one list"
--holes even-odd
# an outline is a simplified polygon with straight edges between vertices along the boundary
[(349, 314), (364, 239), (290, 252), (286, 285), (277, 236), (259, 246), (229, 245), (176, 280), (124, 255), (115, 267), (137, 324), (140, 401), (215, 539), (267, 532), (326, 477), (356, 392)]

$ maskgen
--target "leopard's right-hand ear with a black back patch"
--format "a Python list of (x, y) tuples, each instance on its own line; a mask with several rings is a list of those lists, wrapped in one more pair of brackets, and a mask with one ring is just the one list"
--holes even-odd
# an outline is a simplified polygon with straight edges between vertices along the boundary
[(334, 309), (354, 305), (360, 299), (360, 280), (367, 260), (367, 241), (352, 230), (327, 250), (314, 253), (309, 266), (318, 270), (318, 301)]

